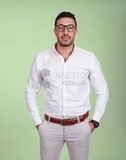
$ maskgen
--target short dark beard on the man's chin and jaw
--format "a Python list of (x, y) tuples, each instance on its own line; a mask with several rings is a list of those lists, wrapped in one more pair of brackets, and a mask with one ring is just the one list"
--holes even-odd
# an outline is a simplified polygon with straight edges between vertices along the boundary
[(68, 39), (64, 40), (65, 36), (62, 36), (60, 39), (57, 39), (58, 43), (60, 44), (60, 46), (62, 47), (69, 47), (73, 44), (74, 42), (74, 38), (71, 39), (71, 37), (68, 37)]

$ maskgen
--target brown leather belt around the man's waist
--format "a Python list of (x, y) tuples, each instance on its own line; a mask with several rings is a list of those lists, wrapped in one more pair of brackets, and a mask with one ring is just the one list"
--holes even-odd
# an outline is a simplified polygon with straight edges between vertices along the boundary
[(45, 114), (45, 120), (52, 122), (52, 123), (58, 123), (63, 126), (68, 126), (68, 125), (74, 125), (79, 122), (83, 122), (88, 117), (88, 115), (89, 115), (89, 111), (76, 118), (59, 119), (59, 118), (49, 117), (48, 115)]

